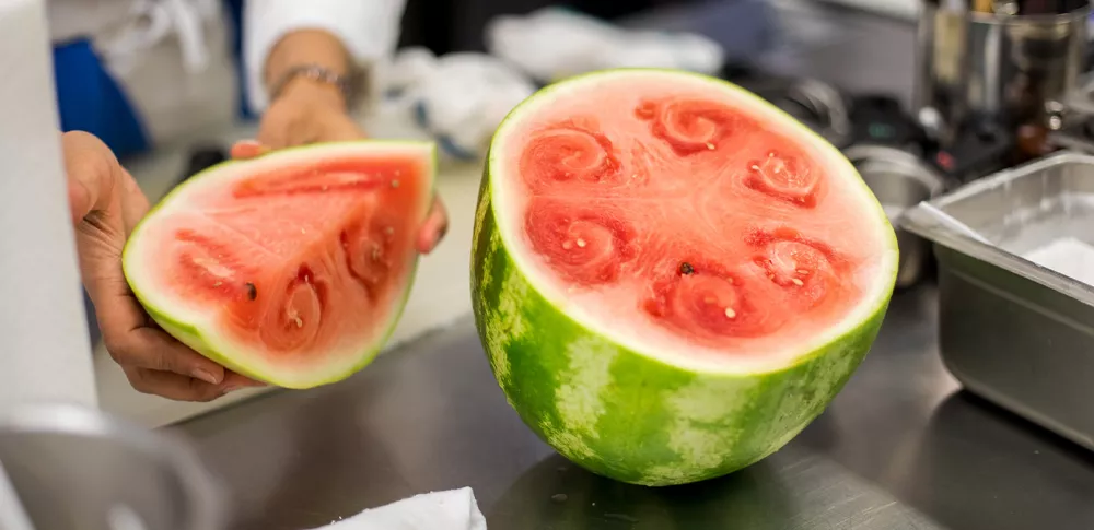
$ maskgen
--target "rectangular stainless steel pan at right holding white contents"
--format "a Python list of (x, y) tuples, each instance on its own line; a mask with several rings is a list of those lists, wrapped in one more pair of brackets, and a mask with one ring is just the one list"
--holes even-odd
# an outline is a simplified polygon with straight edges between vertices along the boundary
[(1094, 156), (1060, 152), (975, 180), (901, 225), (932, 242), (954, 377), (1094, 449), (1094, 287), (1023, 257), (1063, 237), (1094, 245)]

